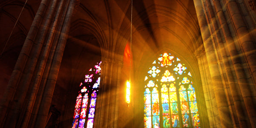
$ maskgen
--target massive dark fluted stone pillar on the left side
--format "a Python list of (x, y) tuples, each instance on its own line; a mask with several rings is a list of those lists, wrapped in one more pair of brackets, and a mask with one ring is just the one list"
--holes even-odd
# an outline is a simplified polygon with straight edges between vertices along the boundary
[(0, 127), (45, 127), (76, 2), (41, 1), (0, 102)]

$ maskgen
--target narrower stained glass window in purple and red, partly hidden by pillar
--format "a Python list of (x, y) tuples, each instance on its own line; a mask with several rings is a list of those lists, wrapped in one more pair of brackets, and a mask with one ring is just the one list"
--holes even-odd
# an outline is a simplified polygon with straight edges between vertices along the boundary
[(100, 64), (101, 62), (91, 68), (80, 84), (81, 90), (76, 99), (72, 128), (93, 128), (101, 73)]

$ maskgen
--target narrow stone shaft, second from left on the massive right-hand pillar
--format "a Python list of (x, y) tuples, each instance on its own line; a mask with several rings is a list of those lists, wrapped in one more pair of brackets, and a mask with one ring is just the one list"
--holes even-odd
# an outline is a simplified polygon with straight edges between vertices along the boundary
[[(209, 0), (207, 0), (207, 4), (208, 4), (208, 10), (213, 14), (214, 12), (213, 12), (212, 7), (210, 6), (211, 3), (209, 2)], [(218, 23), (216, 23), (216, 19), (215, 19), (214, 15), (211, 16), (211, 20), (212, 20), (212, 22), (215, 22), (213, 27), (214, 27), (216, 35), (217, 35), (218, 45), (219, 45), (219, 47), (223, 48), (223, 49), (220, 50), (220, 53), (221, 53), (222, 60), (224, 62), (224, 68), (225, 68), (225, 71), (227, 73), (227, 80), (228, 80), (228, 83), (230, 85), (230, 92), (231, 92), (233, 102), (234, 102), (235, 114), (233, 116), (234, 116), (234, 118), (239, 118), (239, 124), (240, 124), (241, 128), (246, 128), (247, 124), (246, 124), (246, 121), (244, 120), (245, 119), (244, 112), (241, 111), (243, 109), (242, 109), (240, 99), (239, 99), (239, 96), (238, 96), (238, 92), (237, 92), (237, 89), (236, 89), (236, 83), (235, 83), (234, 78), (233, 78), (232, 70), (230, 68), (230, 64), (229, 64), (229, 61), (228, 61), (228, 58), (227, 58), (227, 54), (226, 54), (226, 50), (225, 50), (223, 41), (221, 40), (222, 39), (221, 38), (221, 33), (218, 31)], [(236, 119), (235, 119), (235, 121), (236, 121)], [(236, 126), (236, 122), (234, 122), (234, 126)]]

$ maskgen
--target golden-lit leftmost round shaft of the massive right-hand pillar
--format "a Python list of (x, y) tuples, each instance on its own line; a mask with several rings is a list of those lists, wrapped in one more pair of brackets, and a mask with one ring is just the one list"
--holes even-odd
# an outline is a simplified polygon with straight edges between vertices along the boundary
[(210, 32), (205, 18), (204, 10), (202, 8), (200, 0), (194, 0), (194, 4), (204, 42), (204, 48), (206, 52), (207, 62), (209, 65), (221, 126), (224, 128), (232, 128), (232, 119), (230, 117), (230, 111), (227, 104), (227, 97), (225, 96), (224, 87), (221, 81), (217, 58), (215, 55), (215, 50), (212, 46), (213, 43), (210, 37)]

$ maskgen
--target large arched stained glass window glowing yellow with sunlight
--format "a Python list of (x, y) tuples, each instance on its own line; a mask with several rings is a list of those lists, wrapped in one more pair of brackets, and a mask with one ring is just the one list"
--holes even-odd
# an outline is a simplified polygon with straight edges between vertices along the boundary
[(144, 128), (200, 128), (192, 75), (170, 53), (160, 55), (145, 76)]

